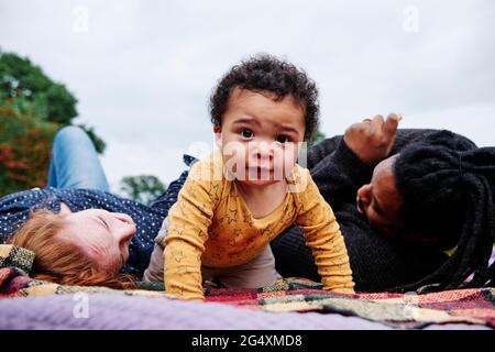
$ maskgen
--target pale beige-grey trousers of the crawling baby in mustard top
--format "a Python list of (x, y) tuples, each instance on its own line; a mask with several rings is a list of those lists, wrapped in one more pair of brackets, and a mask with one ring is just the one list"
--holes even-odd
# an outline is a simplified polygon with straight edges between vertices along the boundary
[[(169, 227), (168, 218), (165, 218), (158, 235), (155, 239), (155, 246), (151, 256), (150, 265), (144, 272), (143, 280), (163, 282), (164, 280), (164, 260), (165, 238)], [(273, 256), (270, 244), (263, 252), (250, 262), (231, 267), (207, 267), (201, 266), (202, 279), (219, 280), (223, 286), (233, 288), (258, 288), (271, 286), (282, 276), (275, 270), (275, 257)]]

